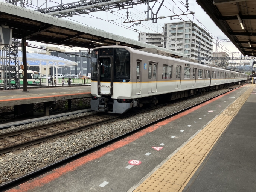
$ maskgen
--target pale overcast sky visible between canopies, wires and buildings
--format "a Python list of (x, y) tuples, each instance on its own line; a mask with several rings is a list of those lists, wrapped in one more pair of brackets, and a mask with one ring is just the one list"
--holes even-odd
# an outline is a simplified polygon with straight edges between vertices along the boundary
[[(75, 0), (62, 0), (63, 3), (67, 2), (75, 2)], [(31, 3), (31, 0), (29, 0)], [(39, 0), (39, 4), (43, 4), (45, 0)], [(54, 3), (55, 2), (55, 3)], [(52, 2), (51, 0), (47, 0), (48, 7), (49, 6), (55, 6), (59, 5), (61, 0), (54, 0)], [(153, 8), (153, 12), (155, 13), (162, 1), (159, 0), (155, 7)], [(163, 3), (163, 6), (161, 7), (160, 11), (158, 12), (158, 17), (160, 16), (170, 16), (170, 15), (176, 15), (176, 14), (182, 14), (183, 12), (186, 12), (187, 9), (185, 8), (184, 4), (186, 3), (185, 0), (165, 0)], [(222, 31), (213, 23), (213, 21), (210, 19), (210, 17), (204, 12), (204, 10), (196, 3), (195, 0), (189, 0), (189, 10), (195, 12), (195, 17), (193, 15), (185, 15), (181, 16), (182, 20), (188, 21), (191, 20), (194, 23), (198, 24), (201, 27), (204, 27), (213, 37), (213, 41), (218, 37), (219, 39), (227, 39), (227, 36), (222, 33)], [(154, 2), (150, 3), (150, 6), (152, 6)], [(176, 5), (175, 5), (176, 4)], [(174, 5), (174, 6), (173, 6)], [(33, 8), (29, 7), (32, 6)], [(35, 10), (37, 7), (37, 1), (33, 1), (32, 5), (27, 5), (27, 8)], [(43, 8), (45, 5), (42, 6)], [(140, 20), (145, 19), (146, 14), (144, 13), (144, 10), (147, 9), (147, 5), (141, 4), (134, 6), (133, 8), (129, 9), (129, 17), (128, 20)], [(66, 20), (78, 22), (80, 24), (85, 24), (90, 27), (95, 27), (97, 29), (105, 30), (106, 32), (114, 33), (116, 35), (125, 36), (127, 38), (138, 40), (138, 32), (154, 32), (154, 33), (162, 33), (164, 26), (164, 23), (171, 23), (171, 22), (178, 22), (181, 21), (178, 19), (179, 17), (172, 17), (173, 19), (170, 20), (170, 18), (165, 19), (159, 19), (157, 23), (152, 23), (152, 20), (150, 21), (142, 21), (141, 24), (138, 26), (132, 26), (131, 23), (124, 24), (123, 22), (126, 20), (126, 12), (127, 9), (118, 10), (118, 9), (111, 9), (110, 11), (114, 11), (113, 13), (110, 12), (93, 12), (89, 15), (82, 14), (77, 15), (74, 17), (66, 17)], [(173, 12), (172, 12), (173, 11)], [(187, 12), (186, 12), (187, 13)], [(111, 22), (110, 20), (114, 20)], [(201, 23), (201, 24), (200, 24)], [(203, 25), (203, 26), (202, 26)], [(131, 26), (131, 27), (130, 27)], [(130, 27), (129, 29), (127, 29)], [(136, 32), (134, 29), (137, 29)], [(37, 44), (37, 45), (45, 45), (38, 42), (31, 42), (31, 44)], [(51, 45), (52, 46), (52, 45)], [(59, 48), (63, 48), (60, 46), (56, 46)], [(66, 47), (66, 51), (78, 51), (82, 48), (76, 48), (73, 47), (72, 49), (69, 49)], [(34, 52), (35, 49), (28, 48), (29, 52)], [(38, 51), (38, 50), (37, 50)], [(215, 44), (213, 45), (213, 51), (215, 51)], [(232, 52), (238, 51), (238, 49), (235, 47), (235, 45), (232, 44), (232, 42), (225, 42), (221, 43), (219, 46), (219, 52), (225, 51), (230, 56), (232, 55)], [(235, 54), (234, 54), (235, 55)], [(236, 56), (239, 56), (236, 54)], [(241, 56), (241, 53), (240, 53)]]

